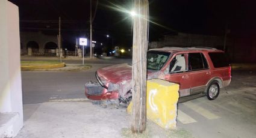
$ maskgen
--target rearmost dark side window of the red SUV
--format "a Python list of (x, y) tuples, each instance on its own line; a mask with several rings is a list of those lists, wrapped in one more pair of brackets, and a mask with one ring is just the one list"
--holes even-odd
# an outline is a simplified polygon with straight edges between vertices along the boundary
[(208, 53), (214, 68), (229, 67), (228, 57), (223, 52), (210, 52)]

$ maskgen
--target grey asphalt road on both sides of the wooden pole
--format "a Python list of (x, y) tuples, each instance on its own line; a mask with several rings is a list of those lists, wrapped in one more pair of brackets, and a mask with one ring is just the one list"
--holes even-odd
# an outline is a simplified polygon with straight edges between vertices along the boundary
[[(93, 68), (86, 71), (22, 72), (23, 104), (86, 98), (84, 83), (96, 81), (96, 69), (122, 62), (131, 60), (88, 61), (86, 64)], [(199, 97), (179, 103), (178, 128), (184, 128), (193, 137), (255, 137), (256, 73), (233, 71), (232, 75), (231, 85), (222, 89), (216, 100)]]

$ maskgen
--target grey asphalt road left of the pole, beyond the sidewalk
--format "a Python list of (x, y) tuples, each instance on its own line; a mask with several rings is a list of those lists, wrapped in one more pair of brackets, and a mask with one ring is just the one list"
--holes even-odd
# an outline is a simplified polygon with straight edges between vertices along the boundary
[[(64, 60), (67, 64), (81, 64), (81, 60)], [(92, 68), (85, 71), (23, 71), (23, 104), (43, 103), (49, 100), (86, 98), (84, 84), (96, 81), (98, 68), (130, 63), (131, 59), (86, 60)]]

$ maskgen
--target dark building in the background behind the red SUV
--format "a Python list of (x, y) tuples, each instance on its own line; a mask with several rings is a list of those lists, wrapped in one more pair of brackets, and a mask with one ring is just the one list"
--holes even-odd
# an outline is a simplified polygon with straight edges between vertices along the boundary
[[(160, 47), (214, 47), (223, 50), (224, 36), (178, 33), (164, 35), (160, 41), (153, 41), (149, 49)], [(256, 40), (248, 37), (228, 36), (225, 52), (231, 62), (256, 62)]]

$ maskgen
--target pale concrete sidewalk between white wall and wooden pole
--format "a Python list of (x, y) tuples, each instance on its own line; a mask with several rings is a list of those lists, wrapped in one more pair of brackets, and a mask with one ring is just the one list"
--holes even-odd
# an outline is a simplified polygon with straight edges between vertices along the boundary
[(130, 127), (125, 108), (104, 109), (89, 101), (25, 104), (24, 126), (16, 138), (121, 137)]

